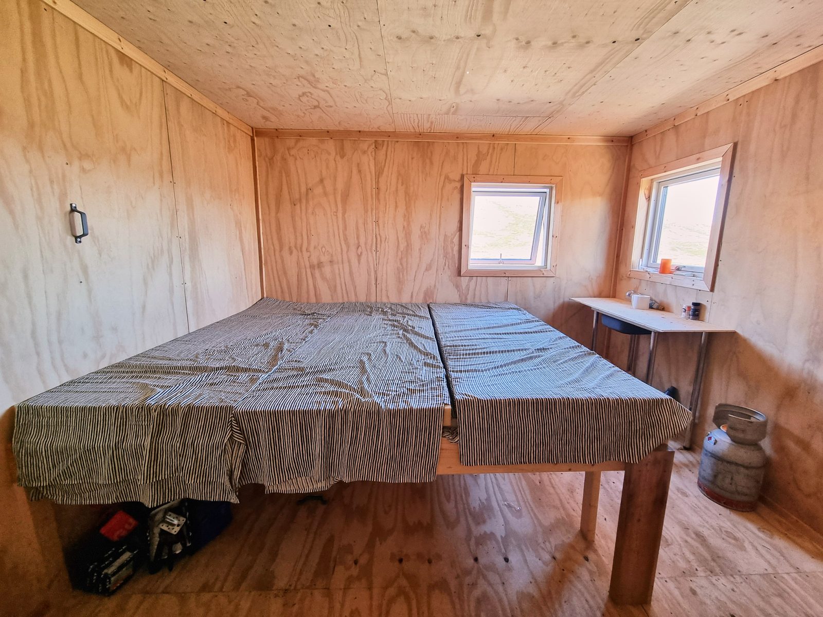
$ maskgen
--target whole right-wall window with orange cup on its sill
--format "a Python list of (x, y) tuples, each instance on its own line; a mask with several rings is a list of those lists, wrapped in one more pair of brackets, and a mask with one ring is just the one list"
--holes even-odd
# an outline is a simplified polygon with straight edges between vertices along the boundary
[[(729, 144), (640, 172), (629, 276), (713, 289), (732, 151)], [(671, 273), (660, 272), (663, 259), (671, 260)]]

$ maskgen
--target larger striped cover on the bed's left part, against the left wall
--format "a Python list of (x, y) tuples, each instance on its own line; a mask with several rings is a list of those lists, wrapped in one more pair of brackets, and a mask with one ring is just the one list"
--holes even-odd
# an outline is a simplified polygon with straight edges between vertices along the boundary
[(448, 401), (425, 304), (251, 308), (17, 406), (21, 485), (58, 503), (434, 480)]

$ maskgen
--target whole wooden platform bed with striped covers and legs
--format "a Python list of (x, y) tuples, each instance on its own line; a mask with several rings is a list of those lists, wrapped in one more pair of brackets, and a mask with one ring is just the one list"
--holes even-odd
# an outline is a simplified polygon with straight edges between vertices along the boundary
[(648, 601), (689, 412), (514, 304), (261, 299), (16, 407), (18, 480), (58, 503), (237, 501), (246, 484), (625, 471), (610, 594)]

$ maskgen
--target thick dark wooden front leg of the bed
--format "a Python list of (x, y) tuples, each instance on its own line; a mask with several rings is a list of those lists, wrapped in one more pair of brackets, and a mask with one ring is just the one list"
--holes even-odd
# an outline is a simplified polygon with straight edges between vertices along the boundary
[(666, 448), (625, 466), (609, 587), (615, 604), (652, 599), (673, 464), (674, 452)]

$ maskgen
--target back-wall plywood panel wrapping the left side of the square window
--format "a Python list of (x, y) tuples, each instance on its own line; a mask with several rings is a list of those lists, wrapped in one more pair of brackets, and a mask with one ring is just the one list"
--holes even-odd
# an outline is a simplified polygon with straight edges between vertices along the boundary
[(377, 142), (379, 300), (506, 299), (505, 277), (460, 276), (463, 174), (508, 174), (514, 144)]

